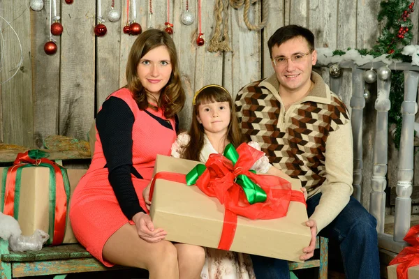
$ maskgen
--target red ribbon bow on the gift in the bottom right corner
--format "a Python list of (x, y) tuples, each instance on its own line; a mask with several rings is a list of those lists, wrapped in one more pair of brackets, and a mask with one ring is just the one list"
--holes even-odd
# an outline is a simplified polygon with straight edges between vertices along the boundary
[(397, 278), (399, 279), (407, 279), (409, 267), (419, 265), (419, 225), (409, 229), (409, 232), (404, 236), (404, 241), (411, 244), (411, 246), (404, 248), (388, 264), (389, 266), (399, 264), (397, 266)]

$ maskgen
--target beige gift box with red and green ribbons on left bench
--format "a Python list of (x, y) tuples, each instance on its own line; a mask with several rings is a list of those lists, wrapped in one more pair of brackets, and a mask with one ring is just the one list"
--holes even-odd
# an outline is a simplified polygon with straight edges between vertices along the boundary
[[(19, 169), (19, 165), (24, 167)], [(0, 209), (18, 220), (23, 235), (29, 236), (36, 229), (42, 229), (50, 234), (48, 243), (77, 243), (68, 211), (71, 194), (87, 169), (43, 165), (39, 160), (34, 165), (16, 164), (15, 161), (13, 167), (0, 167)], [(15, 176), (11, 170), (17, 170)], [(13, 179), (12, 183), (10, 179)]]

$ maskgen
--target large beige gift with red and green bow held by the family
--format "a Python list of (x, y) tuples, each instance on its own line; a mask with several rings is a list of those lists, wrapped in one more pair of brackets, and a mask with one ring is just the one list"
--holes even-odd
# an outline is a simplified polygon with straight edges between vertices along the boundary
[(197, 168), (198, 162), (157, 156), (150, 190), (154, 226), (165, 229), (169, 241), (301, 262), (311, 240), (301, 183), (249, 172), (260, 155), (249, 148), (237, 148), (234, 164), (211, 155)]

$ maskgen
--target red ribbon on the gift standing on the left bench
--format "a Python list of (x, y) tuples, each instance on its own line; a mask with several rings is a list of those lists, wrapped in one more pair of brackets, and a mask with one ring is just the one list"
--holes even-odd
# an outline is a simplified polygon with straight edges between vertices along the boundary
[[(64, 186), (64, 179), (61, 173), (61, 167), (54, 163), (52, 160), (47, 158), (31, 158), (29, 152), (38, 153), (42, 151), (26, 151), (24, 153), (18, 153), (13, 167), (10, 167), (6, 176), (6, 188), (4, 189), (4, 209), (3, 213), (9, 216), (15, 216), (15, 211), (18, 210), (15, 206), (15, 193), (16, 193), (16, 182), (17, 182), (17, 172), (22, 167), (27, 167), (28, 165), (34, 166), (45, 166), (52, 167), (54, 169), (54, 176), (56, 179), (55, 189), (52, 193), (55, 193), (54, 197), (54, 232), (52, 236), (52, 245), (59, 245), (64, 241), (64, 234), (66, 232), (66, 215), (67, 215), (67, 199), (68, 191)], [(50, 177), (51, 179), (51, 177)], [(17, 201), (18, 203), (19, 201)], [(17, 213), (16, 213), (17, 215)]]

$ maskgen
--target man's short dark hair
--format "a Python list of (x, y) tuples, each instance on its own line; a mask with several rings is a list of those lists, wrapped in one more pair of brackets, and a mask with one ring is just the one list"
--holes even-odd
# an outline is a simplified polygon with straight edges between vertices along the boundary
[(269, 48), (269, 54), (272, 58), (272, 47), (275, 45), (280, 46), (287, 40), (291, 40), (295, 37), (302, 37), (307, 40), (309, 48), (314, 50), (314, 34), (309, 29), (300, 27), (300, 25), (286, 25), (279, 28), (267, 41), (267, 47)]

